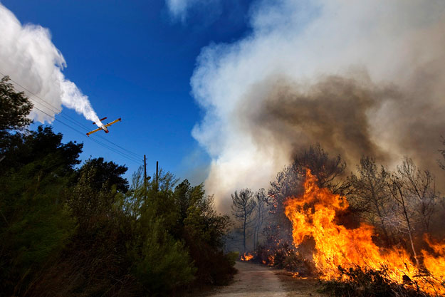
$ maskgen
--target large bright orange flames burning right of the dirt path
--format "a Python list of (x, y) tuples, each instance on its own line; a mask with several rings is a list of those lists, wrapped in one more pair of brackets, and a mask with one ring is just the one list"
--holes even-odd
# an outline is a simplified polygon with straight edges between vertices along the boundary
[(290, 197), (285, 202), (285, 214), (293, 226), (293, 244), (299, 246), (312, 238), (315, 241), (313, 261), (323, 279), (340, 276), (338, 266), (360, 266), (381, 269), (386, 266), (393, 281), (403, 283), (403, 277), (416, 279), (427, 293), (445, 293), (441, 282), (445, 280), (445, 244), (431, 244), (439, 256), (422, 251), (423, 263), (431, 276), (419, 276), (419, 269), (404, 249), (382, 249), (372, 241), (374, 229), (361, 224), (356, 229), (347, 229), (335, 222), (335, 214), (344, 212), (349, 204), (345, 197), (333, 194), (317, 186), (316, 178), (306, 172), (304, 193)]

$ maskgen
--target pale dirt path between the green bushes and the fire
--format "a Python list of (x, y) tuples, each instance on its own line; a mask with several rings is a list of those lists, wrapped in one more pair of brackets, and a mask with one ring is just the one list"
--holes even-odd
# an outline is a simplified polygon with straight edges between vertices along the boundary
[(238, 273), (236, 273), (233, 283), (229, 286), (215, 288), (206, 296), (322, 296), (315, 291), (315, 281), (295, 281), (286, 271), (246, 262), (236, 262), (235, 268), (238, 269)]

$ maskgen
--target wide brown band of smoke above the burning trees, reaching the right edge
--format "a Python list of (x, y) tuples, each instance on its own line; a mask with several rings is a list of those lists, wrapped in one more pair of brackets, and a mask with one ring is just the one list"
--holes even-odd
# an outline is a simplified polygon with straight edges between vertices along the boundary
[[(433, 96), (424, 83), (415, 83), (428, 79), (429, 75), (422, 74), (408, 93), (395, 85), (375, 85), (367, 73), (357, 73), (354, 78), (325, 76), (310, 86), (289, 78), (269, 78), (243, 100), (239, 118), (244, 118), (244, 129), (258, 146), (281, 145), (289, 159), (320, 143), (330, 153), (341, 155), (352, 171), (362, 155), (389, 167), (408, 155), (442, 178), (444, 172), (431, 156), (439, 157), (435, 148), (445, 132), (445, 110), (429, 100), (419, 100), (419, 96)], [(434, 78), (436, 75), (429, 77)], [(386, 116), (376, 119), (382, 112)], [(392, 135), (392, 142), (384, 142), (386, 147), (380, 145), (378, 130)]]

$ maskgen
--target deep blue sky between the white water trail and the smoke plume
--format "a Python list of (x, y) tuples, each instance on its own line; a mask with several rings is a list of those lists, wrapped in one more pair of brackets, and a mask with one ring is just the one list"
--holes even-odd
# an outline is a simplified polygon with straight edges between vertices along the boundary
[[(51, 31), (66, 59), (63, 73), (88, 95), (101, 118), (122, 118), (103, 137), (141, 159), (147, 155), (149, 174), (159, 160), (178, 177), (204, 182), (209, 157), (191, 135), (202, 112), (190, 94), (190, 78), (201, 48), (248, 33), (248, 1), (214, 1), (192, 8), (182, 19), (169, 14), (160, 0), (1, 3), (22, 24)], [(94, 128), (73, 110), (63, 108), (63, 114)], [(56, 118), (68, 123), (61, 115)], [(57, 121), (53, 127), (64, 141), (84, 143), (82, 160), (105, 157), (125, 164), (127, 177), (138, 167)]]

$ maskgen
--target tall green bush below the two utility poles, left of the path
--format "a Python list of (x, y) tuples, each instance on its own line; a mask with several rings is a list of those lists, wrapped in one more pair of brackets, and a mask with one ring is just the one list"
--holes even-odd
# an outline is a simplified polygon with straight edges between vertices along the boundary
[(174, 207), (174, 182), (172, 174), (161, 170), (157, 181), (144, 184), (137, 172), (123, 207), (134, 234), (127, 244), (132, 272), (153, 295), (190, 283), (196, 271), (182, 241), (169, 232), (179, 215)]

